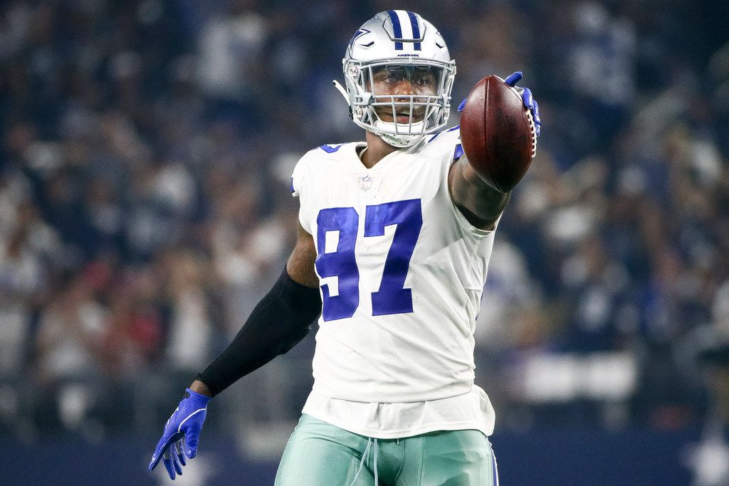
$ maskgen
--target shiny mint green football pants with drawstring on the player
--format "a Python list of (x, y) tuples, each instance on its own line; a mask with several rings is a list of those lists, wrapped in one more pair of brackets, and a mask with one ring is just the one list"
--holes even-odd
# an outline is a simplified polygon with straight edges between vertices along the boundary
[(302, 415), (278, 466), (276, 486), (498, 485), (480, 431), (370, 439)]

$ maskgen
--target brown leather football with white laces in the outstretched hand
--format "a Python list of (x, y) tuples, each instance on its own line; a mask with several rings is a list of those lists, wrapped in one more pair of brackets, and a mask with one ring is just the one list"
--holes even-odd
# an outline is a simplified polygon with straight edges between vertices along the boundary
[(487, 76), (471, 90), (461, 111), (461, 144), (486, 184), (509, 192), (537, 153), (531, 113), (503, 79)]

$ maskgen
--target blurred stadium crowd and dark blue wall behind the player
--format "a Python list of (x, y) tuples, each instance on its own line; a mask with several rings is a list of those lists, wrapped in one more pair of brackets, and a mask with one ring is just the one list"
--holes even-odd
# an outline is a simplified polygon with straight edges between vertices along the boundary
[[(477, 332), (502, 484), (729, 484), (719, 0), (1, 2), (1, 482), (167, 482), (163, 422), (281, 272), (297, 158), (362, 138), (331, 80), (392, 8), (441, 29), (456, 105), (519, 69), (541, 109)], [(176, 482), (269, 484), (312, 353), (215, 399)]]

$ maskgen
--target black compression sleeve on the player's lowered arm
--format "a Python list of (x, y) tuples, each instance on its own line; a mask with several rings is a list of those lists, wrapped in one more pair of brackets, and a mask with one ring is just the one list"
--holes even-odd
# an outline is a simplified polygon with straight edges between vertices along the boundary
[(321, 313), (319, 289), (281, 277), (254, 308), (235, 339), (198, 375), (213, 396), (303, 340)]

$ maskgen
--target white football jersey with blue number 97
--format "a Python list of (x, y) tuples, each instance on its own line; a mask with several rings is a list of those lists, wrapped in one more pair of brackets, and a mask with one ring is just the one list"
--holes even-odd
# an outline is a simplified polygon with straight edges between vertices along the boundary
[(469, 393), (494, 232), (472, 227), (448, 192), (459, 130), (370, 169), (356, 151), (363, 146), (313, 149), (292, 177), (323, 303), (313, 391), (382, 403)]

